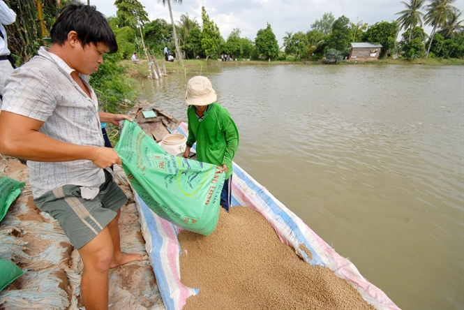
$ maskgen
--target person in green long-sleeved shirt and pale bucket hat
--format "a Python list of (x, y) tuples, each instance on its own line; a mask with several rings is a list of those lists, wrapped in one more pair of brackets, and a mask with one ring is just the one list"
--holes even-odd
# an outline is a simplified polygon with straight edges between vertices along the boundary
[(197, 143), (197, 159), (212, 163), (225, 172), (220, 205), (229, 212), (232, 195), (232, 160), (239, 148), (239, 131), (229, 112), (216, 103), (216, 91), (204, 76), (188, 80), (186, 102), (188, 138), (184, 157), (188, 158), (193, 144)]

